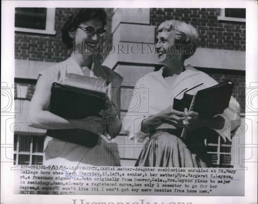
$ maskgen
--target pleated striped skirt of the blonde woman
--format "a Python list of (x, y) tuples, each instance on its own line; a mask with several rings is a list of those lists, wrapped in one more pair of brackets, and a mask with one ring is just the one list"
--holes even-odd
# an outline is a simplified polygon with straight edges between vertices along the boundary
[(186, 145), (169, 133), (147, 136), (135, 166), (151, 167), (211, 167), (204, 141)]

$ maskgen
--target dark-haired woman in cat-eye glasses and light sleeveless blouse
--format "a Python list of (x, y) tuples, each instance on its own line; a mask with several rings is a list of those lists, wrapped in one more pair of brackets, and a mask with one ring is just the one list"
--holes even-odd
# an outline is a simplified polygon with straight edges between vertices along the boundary
[[(70, 16), (63, 25), (62, 40), (68, 48), (73, 48), (73, 52), (67, 60), (39, 73), (29, 111), (31, 121), (36, 122), (39, 128), (49, 130), (79, 128), (86, 130), (85, 137), (96, 137), (96, 133), (92, 130), (93, 123), (103, 123), (109, 118), (109, 121), (120, 124), (120, 120), (114, 118), (107, 110), (100, 111), (99, 114), (102, 117), (91, 116), (85, 119), (62, 118), (49, 111), (52, 83), (62, 83), (68, 73), (100, 77), (115, 84), (122, 82), (120, 75), (101, 65), (99, 55), (96, 55), (96, 49), (91, 48), (91, 45), (103, 42), (106, 20), (107, 15), (104, 9), (83, 8)], [(74, 135), (69, 136), (73, 137)], [(111, 153), (108, 147), (103, 148), (104, 152), (100, 155), (98, 145), (85, 147), (49, 136), (46, 137), (44, 146), (46, 163), (49, 164), (66, 165), (69, 161), (70, 165), (77, 166), (81, 162), (82, 164), (98, 166), (101, 156), (104, 156), (105, 158), (102, 159), (106, 162), (101, 165), (120, 165), (119, 162), (114, 162), (115, 159), (119, 159), (116, 148), (112, 148)], [(107, 157), (107, 155), (109, 156)]]

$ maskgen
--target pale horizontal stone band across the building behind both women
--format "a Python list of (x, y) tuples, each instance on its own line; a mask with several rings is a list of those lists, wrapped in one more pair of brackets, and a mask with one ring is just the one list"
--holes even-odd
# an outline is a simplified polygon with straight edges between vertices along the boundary
[[(117, 42), (118, 43), (118, 42)], [(142, 53), (142, 44), (133, 42), (119, 42), (124, 45), (123, 51), (127, 53), (126, 44), (129, 45), (129, 54), (110, 54), (104, 60), (103, 65), (114, 68), (119, 62), (140, 63), (140, 64), (158, 64), (157, 54)], [(133, 45), (138, 45), (133, 46)], [(151, 48), (154, 44), (150, 44)], [(131, 47), (133, 46), (133, 54)], [(115, 46), (117, 49), (117, 46)], [(147, 53), (147, 45), (143, 46), (143, 53)], [(15, 77), (26, 79), (37, 79), (38, 73), (54, 64), (55, 62), (42, 62), (33, 60), (15, 59)], [(185, 65), (190, 64), (193, 67), (217, 68), (228, 70), (245, 70), (245, 51), (223, 50), (211, 48), (197, 48), (195, 54), (185, 61)]]

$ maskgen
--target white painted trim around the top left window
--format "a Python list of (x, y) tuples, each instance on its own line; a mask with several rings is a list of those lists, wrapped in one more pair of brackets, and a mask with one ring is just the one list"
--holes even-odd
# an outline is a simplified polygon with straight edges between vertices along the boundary
[(55, 29), (55, 8), (47, 8), (46, 30), (15, 27), (15, 31), (28, 32), (28, 33), (42, 33), (42, 34), (51, 34), (51, 35), (55, 34), (54, 29)]

